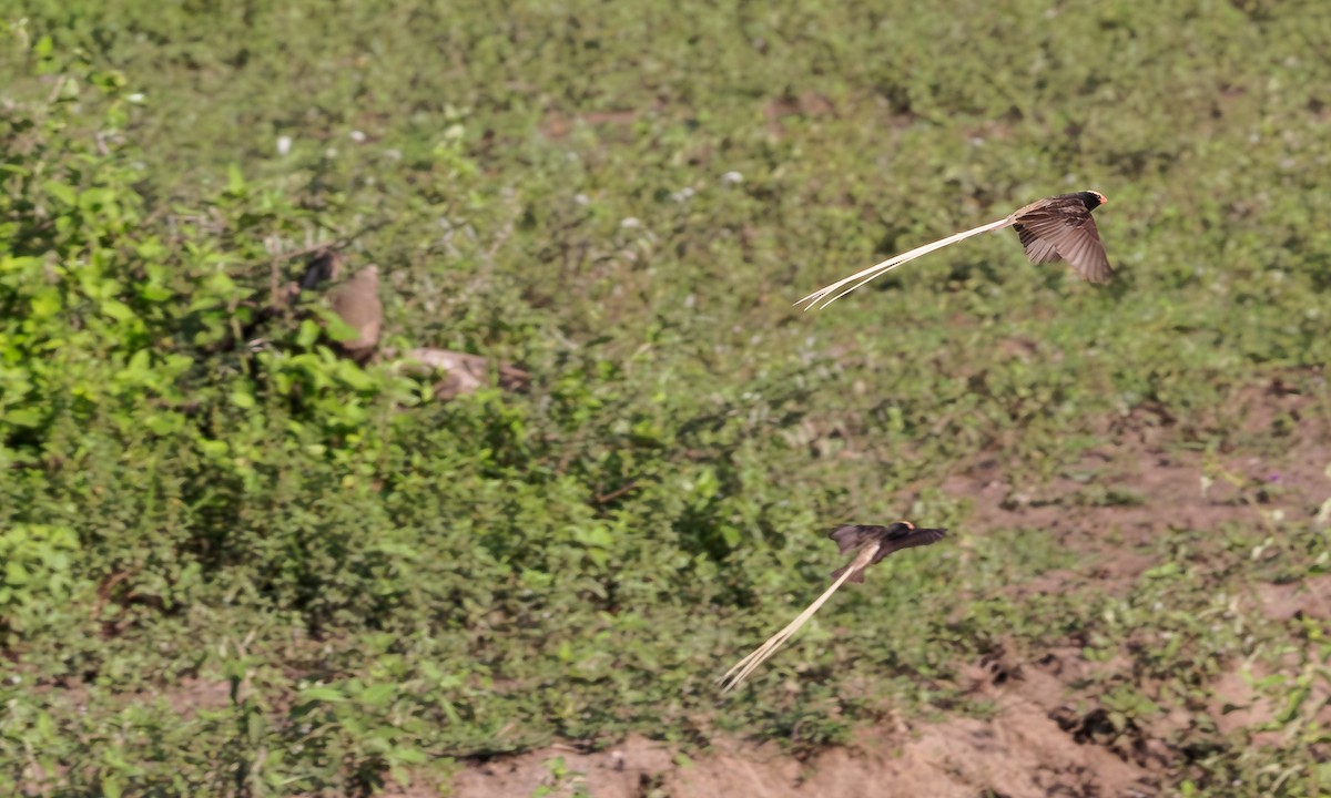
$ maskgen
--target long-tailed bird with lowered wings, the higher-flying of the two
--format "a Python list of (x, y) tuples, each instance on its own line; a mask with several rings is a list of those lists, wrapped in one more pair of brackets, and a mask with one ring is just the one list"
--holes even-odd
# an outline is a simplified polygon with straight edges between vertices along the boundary
[[(1109, 257), (1105, 255), (1105, 246), (1099, 242), (1095, 219), (1090, 215), (1090, 211), (1106, 202), (1109, 200), (1099, 192), (1077, 192), (1075, 194), (1046, 197), (1040, 202), (1032, 202), (1025, 207), (1017, 209), (1012, 215), (997, 222), (949, 235), (856, 271), (851, 277), (813, 291), (796, 302), (796, 305), (808, 302), (804, 310), (815, 306), (827, 307), (870, 279), (881, 277), (902, 263), (909, 263), (921, 255), (928, 255), (934, 250), (957, 243), (972, 235), (980, 235), (990, 230), (1002, 230), (1004, 227), (1012, 227), (1017, 231), (1017, 238), (1021, 239), (1021, 246), (1026, 249), (1026, 257), (1030, 258), (1032, 263), (1067, 261), (1082, 279), (1093, 283), (1106, 283), (1114, 275), (1114, 270), (1109, 267)], [(843, 290), (849, 283), (853, 285)]]

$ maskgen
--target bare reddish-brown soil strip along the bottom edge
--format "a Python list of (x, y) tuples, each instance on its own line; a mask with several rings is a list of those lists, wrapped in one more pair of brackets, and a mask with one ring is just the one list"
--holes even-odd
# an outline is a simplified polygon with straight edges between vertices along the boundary
[[(1034, 689), (1034, 686), (1032, 688)], [(552, 795), (580, 787), (598, 798), (744, 795), (755, 798), (1009, 798), (1146, 797), (1157, 778), (1107, 749), (1078, 745), (1042, 706), (1013, 693), (993, 720), (960, 718), (827, 750), (805, 762), (772, 745), (721, 743), (695, 761), (675, 761), (666, 743), (631, 737), (608, 751), (551, 749), (469, 769), (458, 798)], [(543, 765), (563, 757), (575, 774), (562, 782)]]

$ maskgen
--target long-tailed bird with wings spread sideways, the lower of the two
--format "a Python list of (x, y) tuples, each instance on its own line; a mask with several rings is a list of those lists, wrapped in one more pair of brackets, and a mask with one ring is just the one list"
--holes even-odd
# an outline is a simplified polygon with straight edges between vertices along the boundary
[(721, 693), (729, 693), (735, 688), (748, 678), (748, 674), (753, 673), (753, 669), (765, 662), (776, 649), (781, 648), (787, 640), (791, 638), (800, 626), (808, 622), (813, 617), (813, 613), (819, 610), (832, 593), (836, 593), (837, 588), (848, 581), (862, 583), (864, 569), (869, 565), (876, 565), (882, 561), (884, 557), (892, 552), (898, 552), (906, 548), (914, 548), (917, 545), (929, 545), (930, 543), (938, 543), (944, 539), (946, 529), (917, 529), (914, 524), (909, 521), (897, 521), (890, 527), (873, 527), (866, 524), (845, 524), (837, 527), (828, 533), (828, 537), (836, 541), (837, 549), (844, 555), (847, 552), (860, 549), (844, 568), (837, 568), (832, 572), (836, 581), (828, 588), (817, 600), (809, 605), (808, 609), (801, 612), (785, 629), (781, 629), (772, 637), (767, 640), (763, 645), (757, 646), (752, 654), (744, 657), (735, 664), (725, 674), (716, 680), (716, 684), (721, 685)]

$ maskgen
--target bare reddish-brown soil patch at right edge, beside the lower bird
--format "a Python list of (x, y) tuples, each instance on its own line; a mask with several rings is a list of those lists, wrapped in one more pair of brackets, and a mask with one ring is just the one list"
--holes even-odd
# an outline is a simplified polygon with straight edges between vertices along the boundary
[[(1109, 424), (1110, 442), (1049, 484), (1022, 491), (1005, 477), (998, 460), (977, 463), (941, 485), (969, 499), (972, 532), (1040, 528), (1067, 547), (1090, 555), (1090, 576), (1110, 589), (1126, 588), (1155, 565), (1142, 548), (1169, 529), (1210, 529), (1225, 523), (1310, 519), (1331, 496), (1331, 428), (1312, 396), (1292, 392), (1279, 379), (1240, 394), (1230, 406), (1242, 436), (1263, 442), (1263, 454), (1230, 452), (1207, 458), (1179, 443), (1178, 422), (1162, 411), (1138, 410)], [(1110, 535), (1113, 533), (1113, 535)], [(1049, 580), (1079, 573), (1046, 575)], [(1040, 585), (1025, 585), (1030, 591)], [(1308, 591), (1304, 585), (1302, 591)], [(1272, 617), (1287, 604), (1280, 592)], [(1324, 588), (1303, 595), (1311, 612), (1327, 612)]]

